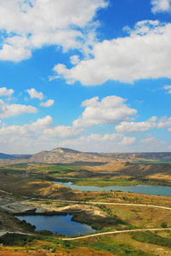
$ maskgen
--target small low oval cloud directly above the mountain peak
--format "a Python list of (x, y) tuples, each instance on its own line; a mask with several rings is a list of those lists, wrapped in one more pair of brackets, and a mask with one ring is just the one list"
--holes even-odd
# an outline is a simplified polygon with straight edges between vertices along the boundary
[(43, 131), (44, 137), (76, 137), (83, 129), (74, 128), (71, 126), (59, 125), (54, 129), (46, 129)]

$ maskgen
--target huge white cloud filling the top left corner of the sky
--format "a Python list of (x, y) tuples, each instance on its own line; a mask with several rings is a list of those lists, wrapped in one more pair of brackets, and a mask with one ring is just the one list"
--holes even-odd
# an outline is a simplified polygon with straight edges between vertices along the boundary
[(0, 59), (21, 61), (44, 45), (86, 51), (94, 38), (94, 15), (106, 6), (105, 0), (2, 0)]

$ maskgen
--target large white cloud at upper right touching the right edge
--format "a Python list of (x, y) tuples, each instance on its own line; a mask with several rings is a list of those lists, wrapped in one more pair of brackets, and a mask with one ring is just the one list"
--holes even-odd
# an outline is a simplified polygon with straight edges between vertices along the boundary
[(58, 64), (54, 72), (72, 84), (103, 84), (119, 80), (133, 83), (138, 79), (171, 79), (171, 24), (158, 20), (143, 20), (134, 29), (128, 27), (128, 37), (104, 40), (94, 45), (93, 58), (80, 61), (67, 69)]

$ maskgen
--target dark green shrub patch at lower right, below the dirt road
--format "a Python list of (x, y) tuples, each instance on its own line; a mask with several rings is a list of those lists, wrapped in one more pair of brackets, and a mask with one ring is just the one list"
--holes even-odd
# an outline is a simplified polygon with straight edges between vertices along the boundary
[(171, 239), (158, 236), (150, 231), (146, 232), (134, 232), (131, 234), (131, 237), (136, 241), (148, 242), (160, 245), (162, 247), (171, 247)]

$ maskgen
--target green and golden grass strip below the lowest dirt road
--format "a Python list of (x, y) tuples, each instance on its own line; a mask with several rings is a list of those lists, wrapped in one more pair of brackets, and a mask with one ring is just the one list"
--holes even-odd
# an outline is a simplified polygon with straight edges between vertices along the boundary
[[(164, 238), (163, 236), (167, 236)], [(145, 238), (144, 238), (145, 237)], [(149, 243), (148, 238), (155, 240), (155, 243)], [(161, 239), (160, 245), (157, 239)], [(170, 255), (171, 250), (165, 247), (171, 241), (170, 233), (162, 232), (145, 235), (140, 240), (140, 234), (132, 235), (116, 235), (101, 236), (98, 238), (90, 238), (84, 241), (61, 241), (54, 236), (3, 236), (3, 243), (6, 247), (2, 247), (1, 255), (9, 252), (23, 253), (21, 255), (128, 255), (128, 256), (151, 256), (151, 255)], [(4, 254), (3, 254), (4, 253)], [(6, 253), (6, 254), (5, 254)], [(27, 253), (27, 254), (25, 254)], [(31, 253), (31, 254), (28, 254)], [(42, 253), (42, 254), (41, 254)], [(20, 255), (20, 254), (17, 254)]]

